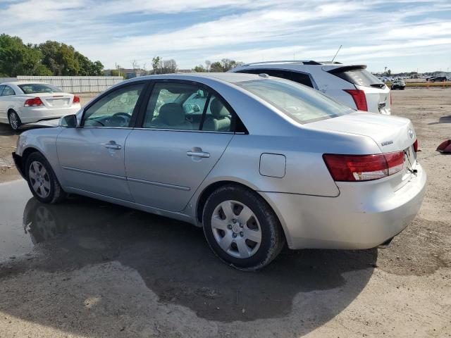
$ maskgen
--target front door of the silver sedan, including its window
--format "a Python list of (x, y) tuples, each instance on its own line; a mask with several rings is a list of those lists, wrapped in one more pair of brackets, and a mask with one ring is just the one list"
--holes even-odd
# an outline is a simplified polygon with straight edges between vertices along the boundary
[(132, 201), (125, 177), (125, 140), (143, 89), (142, 83), (113, 89), (85, 109), (80, 127), (58, 135), (66, 186)]

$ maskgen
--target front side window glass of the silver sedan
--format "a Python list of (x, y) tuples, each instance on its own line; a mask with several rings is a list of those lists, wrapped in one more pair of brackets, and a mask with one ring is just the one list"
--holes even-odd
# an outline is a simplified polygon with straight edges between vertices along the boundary
[(144, 84), (133, 84), (110, 92), (87, 108), (82, 118), (85, 127), (129, 127)]

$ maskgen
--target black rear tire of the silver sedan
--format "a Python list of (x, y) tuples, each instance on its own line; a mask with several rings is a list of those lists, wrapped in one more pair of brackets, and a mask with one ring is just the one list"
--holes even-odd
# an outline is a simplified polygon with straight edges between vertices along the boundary
[[(218, 244), (218, 240), (215, 237), (217, 234), (214, 234), (211, 220), (214, 212), (224, 201), (236, 201), (238, 204), (242, 204), (249, 208), (253, 213), (250, 220), (252, 220), (253, 224), (259, 224), (258, 227), (261, 233), (261, 242), (258, 247), (254, 245), (255, 252), (248, 258), (238, 258), (226, 252)], [(238, 206), (238, 208), (240, 207)], [(237, 215), (235, 210), (233, 211), (234, 218), (235, 215)], [(236, 217), (239, 216), (237, 215)], [(257, 218), (257, 222), (255, 222), (254, 218)], [(228, 222), (228, 220), (223, 221), (226, 223)], [(259, 270), (263, 268), (278, 256), (285, 245), (285, 235), (276, 213), (274, 213), (271, 206), (269, 206), (259, 194), (250, 189), (246, 189), (245, 187), (226, 185), (214, 191), (206, 200), (204, 211), (202, 213), (202, 224), (206, 240), (214, 253), (216, 253), (216, 256), (221, 258), (221, 260), (228, 265), (232, 265), (240, 270)], [(247, 227), (248, 224), (249, 222), (244, 226)], [(229, 226), (231, 227), (232, 225)], [(223, 230), (216, 229), (216, 231), (222, 232), (224, 234), (223, 238), (226, 237), (226, 232)], [(234, 232), (235, 230), (230, 229), (226, 231)], [(242, 232), (240, 232), (240, 234), (242, 235)], [(237, 233), (235, 233), (235, 236), (237, 236)], [(233, 239), (233, 241), (240, 240), (239, 237), (240, 235), (234, 237), (235, 239)], [(252, 241), (247, 242), (247, 239), (243, 239), (246, 243), (253, 244)], [(230, 245), (230, 250), (232, 250), (233, 243)], [(237, 244), (235, 244), (235, 246), (237, 246)], [(238, 248), (236, 249), (238, 251)], [(249, 249), (248, 246), (247, 249)], [(251, 251), (254, 249), (251, 249)]]

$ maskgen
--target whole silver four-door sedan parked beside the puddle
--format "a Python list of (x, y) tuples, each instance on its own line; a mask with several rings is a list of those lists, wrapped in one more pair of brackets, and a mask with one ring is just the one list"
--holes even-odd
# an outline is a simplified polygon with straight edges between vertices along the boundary
[(204, 228), (256, 270), (283, 246), (367, 249), (409, 225), (426, 173), (405, 118), (363, 113), (268, 75), (122, 82), (13, 154), (44, 203), (80, 194)]

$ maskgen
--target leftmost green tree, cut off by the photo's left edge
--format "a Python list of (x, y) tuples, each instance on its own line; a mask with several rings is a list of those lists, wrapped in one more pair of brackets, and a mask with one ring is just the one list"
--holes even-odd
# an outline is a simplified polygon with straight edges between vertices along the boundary
[(42, 53), (31, 44), (23, 44), (20, 37), (0, 35), (0, 73), (17, 75), (51, 75), (41, 64)]

